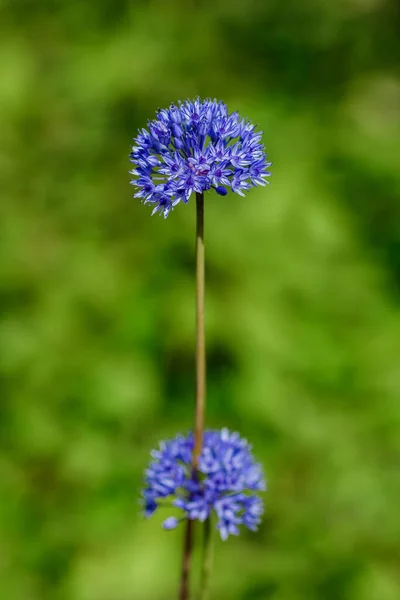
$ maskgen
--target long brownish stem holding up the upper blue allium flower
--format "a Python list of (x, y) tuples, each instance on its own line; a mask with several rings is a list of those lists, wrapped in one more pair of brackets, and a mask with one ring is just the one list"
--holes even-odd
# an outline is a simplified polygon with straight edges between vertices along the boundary
[[(196, 401), (192, 463), (193, 477), (197, 476), (197, 469), (203, 446), (206, 400), (204, 287), (204, 194), (196, 193)], [(193, 526), (194, 522), (187, 519), (179, 600), (189, 600), (189, 574), (193, 547)]]

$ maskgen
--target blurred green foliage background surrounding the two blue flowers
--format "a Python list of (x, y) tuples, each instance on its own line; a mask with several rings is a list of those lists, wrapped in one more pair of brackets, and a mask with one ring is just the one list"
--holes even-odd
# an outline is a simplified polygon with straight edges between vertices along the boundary
[(214, 600), (400, 598), (395, 0), (0, 2), (0, 598), (172, 600), (150, 449), (192, 424), (194, 203), (132, 200), (138, 127), (211, 96), (272, 185), (206, 205), (208, 425), (269, 481)]

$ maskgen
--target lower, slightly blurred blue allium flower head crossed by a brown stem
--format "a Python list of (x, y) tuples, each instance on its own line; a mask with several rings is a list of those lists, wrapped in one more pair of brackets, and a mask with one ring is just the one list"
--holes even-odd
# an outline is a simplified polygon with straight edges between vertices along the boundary
[(221, 538), (238, 535), (238, 525), (255, 531), (263, 503), (254, 493), (266, 489), (261, 466), (254, 462), (251, 447), (238, 433), (206, 431), (196, 475), (192, 473), (193, 435), (178, 435), (161, 442), (151, 455), (145, 474), (144, 514), (149, 517), (172, 497), (172, 505), (183, 517), (168, 517), (165, 529), (180, 521), (205, 521), (214, 511)]

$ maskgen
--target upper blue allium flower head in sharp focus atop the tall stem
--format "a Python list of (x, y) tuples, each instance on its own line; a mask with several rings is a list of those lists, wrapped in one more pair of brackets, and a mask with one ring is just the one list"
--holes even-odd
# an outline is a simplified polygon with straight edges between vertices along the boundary
[(195, 100), (159, 110), (148, 129), (134, 139), (130, 161), (138, 188), (136, 198), (151, 204), (152, 214), (167, 217), (181, 200), (213, 188), (244, 196), (252, 186), (265, 185), (270, 175), (262, 132), (228, 114), (223, 102)]

